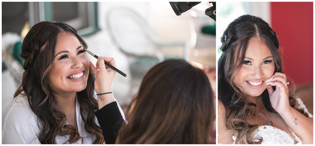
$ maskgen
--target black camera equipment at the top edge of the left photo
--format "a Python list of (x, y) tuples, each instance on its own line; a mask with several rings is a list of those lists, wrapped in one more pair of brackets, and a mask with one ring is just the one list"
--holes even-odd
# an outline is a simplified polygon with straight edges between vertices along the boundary
[[(182, 13), (188, 11), (189, 9), (191, 9), (193, 6), (196, 6), (198, 3), (201, 2), (169, 2), (169, 4), (171, 5), (171, 7), (173, 8), (175, 14), (177, 16), (181, 15)], [(209, 2), (212, 3), (212, 7), (207, 8), (205, 10), (205, 14), (207, 16), (209, 16), (210, 18), (215, 20), (215, 2)]]

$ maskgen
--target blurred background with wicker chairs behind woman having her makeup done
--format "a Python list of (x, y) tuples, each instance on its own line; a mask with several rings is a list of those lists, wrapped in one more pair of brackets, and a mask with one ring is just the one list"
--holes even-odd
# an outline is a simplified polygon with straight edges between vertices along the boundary
[(202, 2), (176, 16), (169, 2), (2, 2), (2, 111), (20, 84), (23, 37), (40, 21), (65, 22), (90, 51), (115, 58), (128, 75), (116, 74), (112, 84), (125, 113), (146, 72), (167, 59), (197, 64), (215, 91), (215, 21), (204, 14), (211, 6)]

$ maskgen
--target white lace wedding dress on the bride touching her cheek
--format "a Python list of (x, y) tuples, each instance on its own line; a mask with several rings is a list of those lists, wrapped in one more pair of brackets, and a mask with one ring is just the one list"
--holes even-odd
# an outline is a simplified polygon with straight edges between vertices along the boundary
[[(297, 108), (303, 108), (304, 112), (306, 112), (310, 118), (313, 117), (313, 115), (308, 112), (306, 106), (300, 98), (297, 98), (296, 102), (299, 105)], [(289, 133), (281, 129), (269, 125), (263, 125), (258, 127), (254, 133), (254, 138), (263, 138), (261, 144), (302, 144), (301, 139), (290, 128), (289, 130), (294, 136), (294, 139), (289, 135)], [(236, 137), (233, 136), (232, 138), (234, 141), (233, 144), (235, 144)]]

